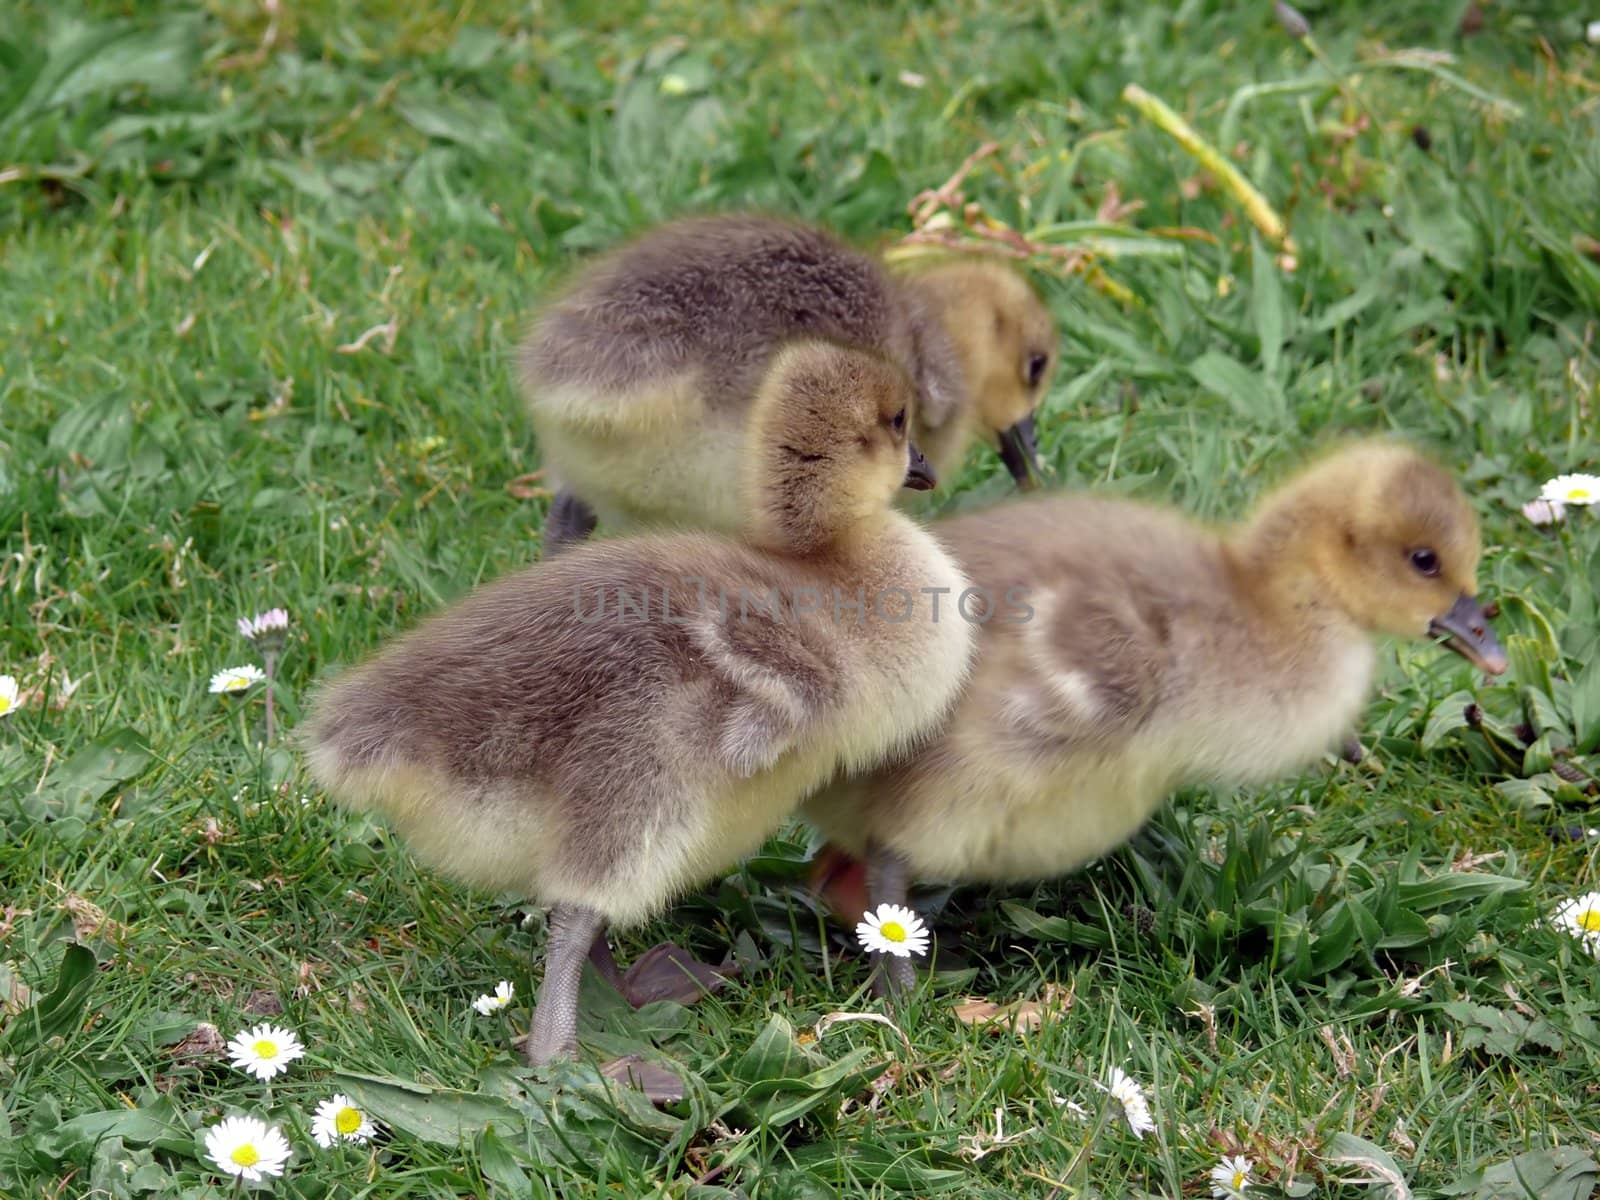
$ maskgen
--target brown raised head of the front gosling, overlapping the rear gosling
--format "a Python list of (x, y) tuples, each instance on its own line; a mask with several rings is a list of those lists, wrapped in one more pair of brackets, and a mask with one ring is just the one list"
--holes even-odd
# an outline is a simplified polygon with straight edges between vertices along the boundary
[(933, 488), (933, 467), (910, 440), (912, 403), (910, 379), (877, 354), (826, 341), (781, 349), (750, 421), (752, 534), (816, 549), (882, 517), (899, 488)]

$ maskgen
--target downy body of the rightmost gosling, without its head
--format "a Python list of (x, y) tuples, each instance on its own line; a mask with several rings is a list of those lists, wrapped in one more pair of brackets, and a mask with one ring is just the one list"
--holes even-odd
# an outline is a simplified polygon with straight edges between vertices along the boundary
[(1181, 514), (1056, 496), (938, 534), (994, 616), (942, 731), (806, 805), (854, 853), (877, 842), (931, 878), (1056, 875), (1125, 842), (1186, 779), (1296, 768), (1366, 698), (1360, 630), (1278, 638), (1243, 611), (1222, 539)]

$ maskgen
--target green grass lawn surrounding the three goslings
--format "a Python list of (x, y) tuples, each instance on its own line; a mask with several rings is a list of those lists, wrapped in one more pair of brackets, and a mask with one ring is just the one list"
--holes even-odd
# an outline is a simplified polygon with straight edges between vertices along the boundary
[[(1341, 1182), (1373, 1146), (1418, 1195), (1522, 1195), (1480, 1171), (1523, 1152), (1533, 1194), (1587, 1195), (1600, 966), (1538, 922), (1597, 877), (1566, 835), (1592, 782), (1550, 766), (1600, 766), (1600, 536), (1517, 506), (1600, 464), (1600, 53), (1568, 6), (1485, 5), (1472, 37), (1466, 8), (1307, 6), (1341, 88), (1266, 5), (346, 0), (285, 3), (270, 37), (242, 0), (13, 5), (0, 672), (34, 694), (0, 720), (0, 1195), (216, 1195), (197, 1131), (229, 1112), (290, 1126), (272, 1190), (299, 1197), (1176, 1197), (1234, 1149), (1262, 1194), (1334, 1195), (1384, 1190)], [(1410, 46), (1456, 59), (1378, 62)], [(1130, 82), (1226, 126), (1293, 274)], [(1221, 517), (1328, 435), (1400, 430), (1469, 482), (1515, 677), (1395, 650), (1368, 765), (1186, 794), (1069, 880), (923, 896), (947, 970), (909, 1045), (869, 1022), (810, 1042), (874, 1002), (792, 830), (626, 939), (733, 944), (720, 998), (592, 995), (595, 1048), (662, 1048), (688, 1102), (653, 1114), (582, 1069), (523, 1086), (470, 1000), (512, 979), (526, 1019), (542, 918), (307, 794), (259, 694), (206, 693), (251, 658), (234, 621), (293, 613), (293, 726), (323, 672), (538, 557), (509, 358), (554, 275), (707, 208), (893, 238), (986, 139), (966, 198), (1043, 242), (1080, 245), (1110, 186), (1142, 203), (1110, 286), (1038, 277), (1058, 477)], [(386, 323), (392, 349), (341, 349)], [(1002, 475), (976, 453), (950, 502)], [(1070, 1008), (1027, 1038), (950, 1014), (1046, 984)], [(310, 1053), (270, 1093), (182, 1053), (278, 1006)], [(1104, 1120), (1110, 1066), (1150, 1090), (1154, 1136)], [(302, 1114), (336, 1086), (387, 1141), (315, 1150)], [(1021, 1136), (974, 1158), (997, 1109)]]

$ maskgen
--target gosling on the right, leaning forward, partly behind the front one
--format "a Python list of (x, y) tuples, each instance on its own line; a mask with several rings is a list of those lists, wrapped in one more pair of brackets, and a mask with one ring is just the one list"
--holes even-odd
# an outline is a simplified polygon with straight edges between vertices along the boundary
[(1221, 533), (1090, 494), (936, 531), (990, 619), (939, 736), (803, 810), (858, 856), (819, 856), (853, 914), (861, 858), (869, 906), (904, 902), (912, 877), (1046, 878), (1122, 845), (1182, 784), (1302, 770), (1366, 704), (1373, 634), (1445, 637), (1506, 669), (1474, 600), (1472, 509), (1403, 445), (1333, 453)]

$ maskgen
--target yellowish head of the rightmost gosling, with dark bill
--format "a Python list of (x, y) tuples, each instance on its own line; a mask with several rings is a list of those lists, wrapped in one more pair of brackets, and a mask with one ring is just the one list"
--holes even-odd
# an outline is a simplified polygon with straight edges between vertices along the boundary
[(1365, 629), (1443, 637), (1491, 675), (1506, 670), (1475, 598), (1478, 520), (1456, 480), (1410, 446), (1339, 450), (1274, 493), (1254, 526), (1270, 547), (1259, 570), (1274, 570), (1274, 557), (1306, 562), (1326, 598)]

